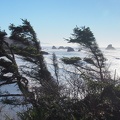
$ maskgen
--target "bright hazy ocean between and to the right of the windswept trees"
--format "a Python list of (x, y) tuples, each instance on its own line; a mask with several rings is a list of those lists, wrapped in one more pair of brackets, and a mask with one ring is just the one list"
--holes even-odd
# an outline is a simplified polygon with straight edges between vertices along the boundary
[[(58, 61), (62, 57), (80, 57), (83, 58), (86, 55), (86, 51), (81, 50), (78, 51), (79, 48), (74, 47), (73, 52), (67, 52), (67, 49), (52, 49), (52, 47), (43, 47), (43, 50), (48, 52), (49, 55), (44, 55), (45, 61), (47, 64), (51, 64), (52, 54), (55, 53)], [(116, 48), (115, 50), (106, 50), (105, 48), (100, 48), (103, 52), (106, 60), (106, 66), (108, 70), (111, 72), (111, 75), (120, 76), (120, 48)], [(48, 65), (49, 67), (49, 65)]]

